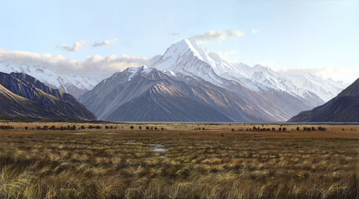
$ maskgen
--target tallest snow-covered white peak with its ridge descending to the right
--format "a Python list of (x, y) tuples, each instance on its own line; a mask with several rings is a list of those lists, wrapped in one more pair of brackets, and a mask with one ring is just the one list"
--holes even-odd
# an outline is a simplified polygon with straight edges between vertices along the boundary
[[(307, 95), (303, 95), (303, 93), (297, 95), (296, 92), (288, 92), (289, 88), (285, 90), (269, 86), (268, 83), (264, 85), (266, 81), (259, 81), (259, 76), (275, 73), (271, 69), (259, 65), (248, 67), (245, 64), (232, 64), (187, 39), (172, 44), (161, 57), (152, 58), (151, 67), (168, 71), (175, 74), (177, 78), (179, 76), (190, 76), (208, 81), (213, 85), (236, 92), (240, 97), (248, 99), (247, 102), (258, 104), (260, 107), (266, 107), (268, 101), (271, 101), (271, 104), (276, 104), (290, 116), (325, 103), (323, 99), (309, 90), (305, 92)], [(219, 73), (222, 74), (218, 75)], [(257, 76), (257, 78), (249, 78), (248, 76)], [(185, 79), (178, 80), (186, 81)], [(282, 84), (285, 83), (287, 82), (283, 81)], [(292, 87), (299, 90), (295, 86)]]

